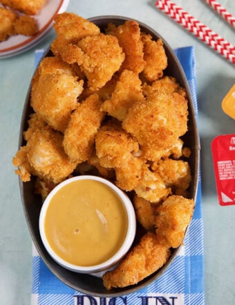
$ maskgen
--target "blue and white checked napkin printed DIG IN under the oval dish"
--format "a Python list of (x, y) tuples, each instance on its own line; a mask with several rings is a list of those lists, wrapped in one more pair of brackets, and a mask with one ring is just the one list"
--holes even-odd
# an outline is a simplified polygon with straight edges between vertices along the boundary
[[(35, 64), (43, 50), (35, 53)], [(176, 49), (197, 112), (196, 69), (192, 46)], [(196, 209), (185, 238), (185, 245), (166, 272), (155, 282), (124, 297), (99, 298), (83, 295), (69, 288), (50, 272), (37, 254), (32, 252), (31, 305), (203, 305), (203, 219), (200, 181)]]

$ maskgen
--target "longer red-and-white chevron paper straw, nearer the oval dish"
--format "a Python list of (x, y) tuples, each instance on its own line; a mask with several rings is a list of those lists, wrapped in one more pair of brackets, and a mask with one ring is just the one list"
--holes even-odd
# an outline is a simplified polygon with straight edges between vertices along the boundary
[(205, 44), (210, 46), (217, 53), (235, 64), (235, 47), (223, 37), (220, 37), (171, 0), (158, 0), (156, 1), (156, 6), (166, 15), (169, 15), (171, 19), (189, 30), (190, 33), (196, 35), (196, 37), (205, 42)]

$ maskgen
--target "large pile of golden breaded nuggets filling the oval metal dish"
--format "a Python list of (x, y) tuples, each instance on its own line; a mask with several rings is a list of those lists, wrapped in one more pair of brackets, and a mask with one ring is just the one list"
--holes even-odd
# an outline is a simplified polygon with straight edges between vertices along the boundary
[(164, 75), (162, 40), (137, 21), (107, 24), (64, 12), (55, 18), (51, 56), (32, 79), (26, 145), (13, 158), (23, 182), (37, 177), (42, 199), (68, 177), (91, 173), (133, 202), (138, 231), (131, 250), (106, 272), (107, 290), (138, 284), (179, 247), (194, 212), (188, 199), (188, 101)]

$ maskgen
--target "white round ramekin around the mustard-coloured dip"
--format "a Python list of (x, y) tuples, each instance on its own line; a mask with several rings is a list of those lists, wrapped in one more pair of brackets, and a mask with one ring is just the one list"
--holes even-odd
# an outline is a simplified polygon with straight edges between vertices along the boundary
[[(120, 198), (122, 201), (122, 204), (124, 206), (124, 209), (126, 210), (127, 215), (127, 232), (126, 237), (124, 238), (124, 242), (122, 243), (121, 247), (119, 248), (118, 252), (116, 252), (113, 256), (111, 256), (110, 259), (107, 261), (104, 261), (103, 263), (100, 263), (98, 265), (91, 265), (91, 266), (79, 266), (79, 265), (73, 265), (71, 263), (68, 263), (64, 261), (61, 257), (59, 257), (52, 247), (50, 247), (50, 244), (48, 243), (48, 240), (46, 238), (46, 234), (44, 231), (44, 220), (46, 216), (46, 212), (48, 209), (48, 206), (50, 204), (50, 200), (53, 198), (55, 193), (57, 193), (60, 189), (63, 188), (66, 184), (69, 184), (71, 182), (77, 181), (77, 180), (95, 180), (97, 182), (101, 182), (102, 184), (105, 184), (106, 186), (109, 186), (110, 189), (112, 189), (116, 195)], [(92, 191), (92, 190), (91, 190)], [(101, 272), (104, 270), (107, 270), (111, 268), (113, 265), (118, 263), (120, 259), (126, 254), (126, 252), (129, 251), (133, 240), (135, 238), (135, 231), (136, 231), (136, 219), (135, 219), (135, 211), (133, 209), (133, 204), (129, 197), (121, 191), (115, 184), (111, 183), (109, 180), (105, 180), (101, 177), (96, 177), (93, 175), (81, 175), (72, 177), (68, 180), (65, 180), (64, 182), (58, 184), (53, 191), (49, 193), (46, 200), (44, 201), (44, 204), (41, 207), (40, 216), (39, 216), (39, 232), (41, 236), (41, 240), (44, 243), (44, 246), (46, 247), (46, 250), (50, 254), (50, 256), (57, 262), (59, 265), (62, 265), (62, 267), (74, 271), (74, 272), (81, 272), (81, 273), (94, 273), (94, 272)]]

